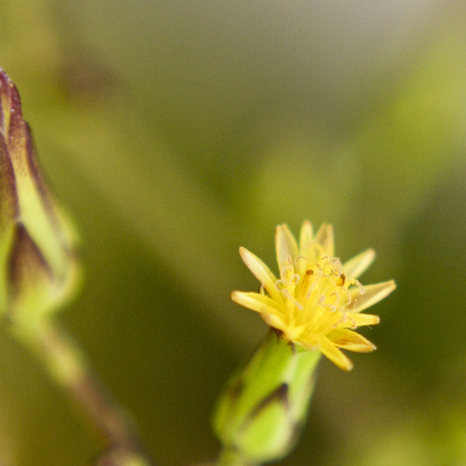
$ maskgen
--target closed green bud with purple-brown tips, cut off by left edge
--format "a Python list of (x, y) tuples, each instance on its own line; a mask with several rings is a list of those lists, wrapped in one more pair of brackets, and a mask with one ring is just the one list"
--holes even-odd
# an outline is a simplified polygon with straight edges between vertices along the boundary
[(44, 183), (14, 84), (0, 69), (0, 315), (34, 323), (76, 288), (76, 236)]

